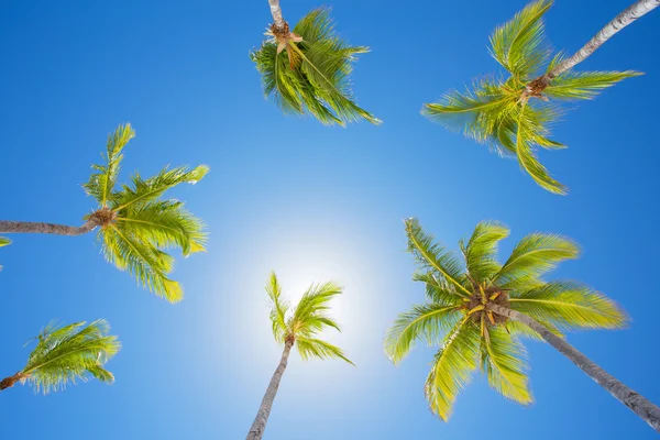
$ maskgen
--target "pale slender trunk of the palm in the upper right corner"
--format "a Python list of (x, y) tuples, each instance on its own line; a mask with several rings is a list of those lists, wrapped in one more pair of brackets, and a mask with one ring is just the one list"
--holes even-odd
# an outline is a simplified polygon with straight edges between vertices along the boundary
[(660, 6), (660, 0), (636, 1), (628, 9), (616, 15), (614, 20), (612, 20), (605, 25), (605, 28), (598, 31), (598, 33), (593, 38), (591, 38), (588, 43), (582, 46), (582, 48), (578, 51), (573, 56), (571, 56), (568, 59), (564, 59), (552, 70), (548, 72), (544, 75), (541, 75), (534, 81), (529, 82), (525, 90), (525, 95), (527, 95), (528, 97), (538, 96), (541, 91), (543, 91), (546, 87), (550, 85), (553, 78), (574, 67), (576, 64), (585, 61), (614, 34), (616, 34), (618, 31), (626, 28), (627, 25), (631, 24), (635, 20), (658, 8), (658, 6)]

